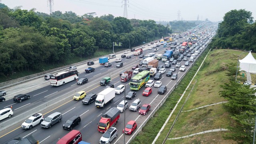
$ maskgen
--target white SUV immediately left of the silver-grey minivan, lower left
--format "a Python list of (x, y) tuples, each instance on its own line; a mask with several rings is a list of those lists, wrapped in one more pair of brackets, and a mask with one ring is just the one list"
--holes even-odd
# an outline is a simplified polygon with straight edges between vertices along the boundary
[(25, 122), (23, 122), (21, 127), (24, 129), (31, 129), (37, 124), (40, 124), (43, 120), (44, 116), (40, 113), (36, 113), (30, 116)]

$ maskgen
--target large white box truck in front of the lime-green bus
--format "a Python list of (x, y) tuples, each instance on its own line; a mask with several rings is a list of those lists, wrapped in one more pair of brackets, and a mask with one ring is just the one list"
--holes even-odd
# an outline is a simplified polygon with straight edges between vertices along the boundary
[(104, 108), (108, 102), (112, 102), (115, 98), (115, 88), (106, 88), (102, 92), (98, 93), (95, 100), (95, 106), (97, 108)]

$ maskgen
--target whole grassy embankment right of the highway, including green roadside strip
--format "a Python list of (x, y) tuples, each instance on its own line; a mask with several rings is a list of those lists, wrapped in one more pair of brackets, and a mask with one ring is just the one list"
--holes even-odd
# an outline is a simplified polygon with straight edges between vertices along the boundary
[[(225, 70), (227, 69), (225, 64), (228, 64), (230, 62), (236, 63), (237, 58), (240, 54), (241, 51), (237, 50), (212, 50), (208, 54), (208, 57), (206, 58), (203, 66), (201, 67), (196, 78), (192, 82), (190, 88), (186, 91), (186, 94), (174, 111), (174, 114), (170, 118), (168, 124), (160, 134), (158, 140), (156, 141), (156, 144), (161, 144), (163, 142), (166, 134), (168, 133), (170, 127), (173, 124), (176, 115), (178, 114), (178, 111), (180, 110), (182, 104), (188, 96), (188, 93), (190, 92), (193, 84), (195, 84), (194, 89), (190, 97), (188, 98), (188, 101), (184, 105), (183, 111), (191, 110), (208, 104), (226, 101), (224, 98), (221, 98), (219, 96), (219, 91), (221, 90), (220, 84), (228, 81), (227, 76), (225, 76)], [(244, 58), (246, 55), (247, 54), (243, 54), (240, 59)], [(255, 54), (253, 55), (255, 57)], [(198, 60), (198, 63), (200, 61), (202, 61), (202, 59)], [(136, 136), (136, 138), (131, 142), (132, 144), (148, 144), (153, 142), (160, 128), (164, 124), (164, 121), (168, 117), (165, 115), (167, 114), (167, 112), (169, 112), (170, 114), (172, 108), (174, 108), (176, 102), (180, 98), (180, 95), (184, 92), (189, 81), (192, 79), (192, 76), (195, 73), (195, 69), (198, 68), (198, 65), (199, 64), (196, 64), (194, 68), (192, 68), (190, 72), (188, 72), (188, 74), (179, 84), (178, 88), (174, 90), (171, 96), (169, 96), (168, 100), (166, 100), (165, 104), (158, 110), (158, 112), (156, 112), (155, 116), (150, 119), (146, 126), (144, 126), (142, 132), (140, 132), (140, 134), (138, 134), (138, 136)], [(195, 80), (197, 80), (196, 83)], [(238, 80), (243, 81), (244, 78), (242, 79), (242, 77), (238, 77)], [(161, 118), (159, 118), (159, 116), (161, 116)], [(232, 119), (230, 118), (230, 114), (222, 108), (222, 104), (216, 104), (213, 106), (196, 109), (189, 112), (181, 112), (168, 138), (186, 136), (205, 130), (228, 128), (228, 126), (232, 124), (234, 124), (234, 121), (232, 121)], [(232, 140), (224, 139), (225, 134), (228, 132), (229, 131), (212, 132), (179, 140), (167, 140), (166, 144), (236, 143)]]

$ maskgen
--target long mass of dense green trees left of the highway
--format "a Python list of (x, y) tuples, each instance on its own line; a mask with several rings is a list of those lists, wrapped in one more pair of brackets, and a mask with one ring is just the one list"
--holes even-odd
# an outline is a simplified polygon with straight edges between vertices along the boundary
[(172, 32), (154, 20), (93, 15), (48, 15), (0, 4), (0, 75), (41, 70), (44, 64), (62, 64), (74, 56), (87, 58), (97, 50), (111, 50), (112, 42), (130, 48)]

